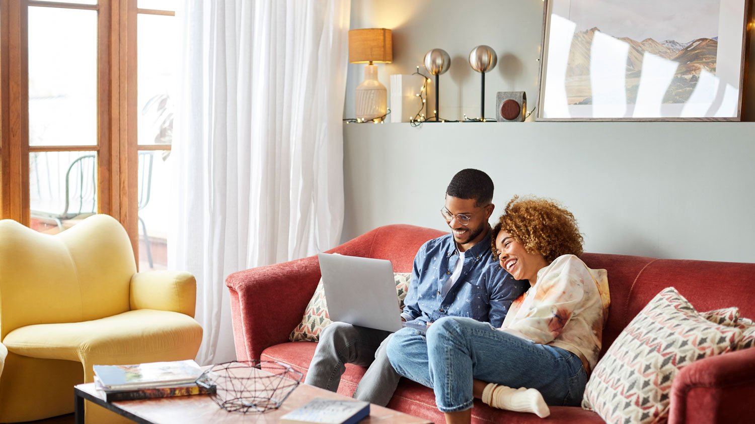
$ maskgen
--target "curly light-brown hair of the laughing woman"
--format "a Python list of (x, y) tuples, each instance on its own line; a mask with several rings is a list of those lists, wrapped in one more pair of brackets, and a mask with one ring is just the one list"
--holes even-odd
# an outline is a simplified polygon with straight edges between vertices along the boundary
[(493, 252), (497, 252), (495, 239), (501, 230), (522, 243), (528, 253), (543, 255), (548, 264), (561, 255), (582, 254), (584, 239), (577, 220), (553, 200), (514, 196), (493, 228)]

